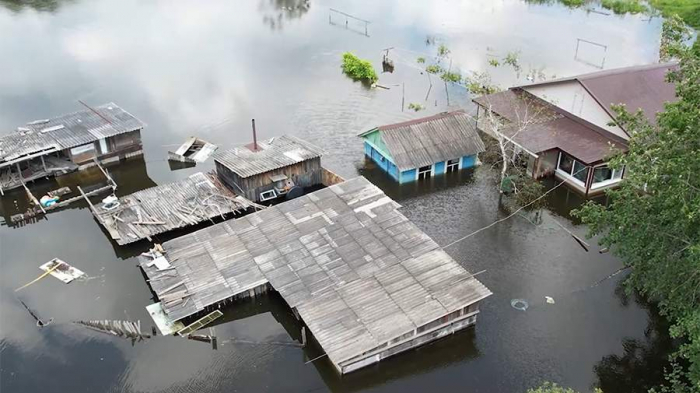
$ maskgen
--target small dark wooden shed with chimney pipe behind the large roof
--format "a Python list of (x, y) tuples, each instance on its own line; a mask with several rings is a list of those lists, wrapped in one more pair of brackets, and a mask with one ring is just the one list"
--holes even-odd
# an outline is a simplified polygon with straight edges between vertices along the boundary
[(282, 135), (217, 153), (214, 163), (231, 190), (253, 202), (266, 202), (295, 198), (305, 189), (327, 184), (322, 154), (307, 141)]

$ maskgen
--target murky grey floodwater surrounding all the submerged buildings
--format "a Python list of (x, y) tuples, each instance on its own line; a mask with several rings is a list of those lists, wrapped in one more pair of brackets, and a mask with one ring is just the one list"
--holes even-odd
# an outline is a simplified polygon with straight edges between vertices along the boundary
[[(77, 100), (118, 103), (148, 124), (144, 159), (110, 168), (123, 195), (212, 169), (208, 162), (171, 171), (166, 151), (190, 135), (224, 148), (248, 142), (255, 118), (261, 138), (309, 139), (328, 152), (331, 170), (368, 177), (439, 244), (502, 217), (489, 169), (398, 187), (365, 162), (356, 137), (379, 124), (472, 109), (464, 89), (446, 89), (437, 78), (428, 92), (418, 56), (433, 57), (444, 43), (452, 69), (466, 74), (520, 51), (519, 73), (492, 70), (506, 85), (526, 83), (531, 70), (551, 77), (595, 71), (595, 64), (654, 62), (660, 32), (658, 19), (520, 0), (24, 3), (0, 0), (2, 132), (79, 110)], [(371, 23), (350, 19), (346, 26), (331, 9)], [(577, 53), (577, 39), (604, 47), (578, 42)], [(389, 47), (396, 71), (380, 83), (390, 89), (367, 89), (341, 74), (343, 52), (381, 69), (381, 50)], [(426, 109), (402, 111), (402, 98)], [(77, 182), (101, 180), (99, 173), (61, 180)], [(85, 204), (0, 226), (0, 391), (523, 392), (543, 380), (580, 391), (646, 391), (662, 380), (672, 345), (666, 322), (653, 305), (624, 294), (624, 273), (598, 283), (620, 262), (599, 254), (594, 241), (586, 252), (556, 224), (585, 233), (568, 218), (580, 203), (575, 194), (562, 187), (550, 195), (542, 224), (514, 217), (448, 249), (468, 270), (486, 270), (479, 277), (494, 292), (475, 329), (342, 378), (324, 359), (307, 363), (322, 354), (318, 347), (285, 345), (298, 342), (301, 326), (276, 295), (226, 310), (213, 328), (217, 350), (161, 336), (131, 343), (75, 325), (126, 319), (150, 330), (144, 307), (152, 295), (134, 258), (147, 245), (114, 245)], [(26, 203), (22, 193), (9, 194), (2, 216)], [(14, 292), (54, 257), (89, 279), (65, 285), (49, 277)], [(516, 298), (529, 302), (527, 311), (511, 307)], [(53, 324), (38, 328), (19, 300)]]

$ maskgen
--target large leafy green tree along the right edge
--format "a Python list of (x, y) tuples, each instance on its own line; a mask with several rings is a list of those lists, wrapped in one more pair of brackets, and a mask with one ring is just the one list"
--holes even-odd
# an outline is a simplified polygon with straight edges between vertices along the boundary
[(700, 56), (685, 38), (662, 40), (679, 62), (668, 74), (678, 100), (656, 125), (614, 107), (616, 122), (631, 131), (627, 153), (610, 162), (626, 168), (625, 181), (607, 192), (608, 206), (589, 202), (575, 213), (631, 267), (629, 288), (658, 301), (671, 335), (683, 339), (676, 356), (688, 367), (667, 370), (668, 392), (700, 391)]

